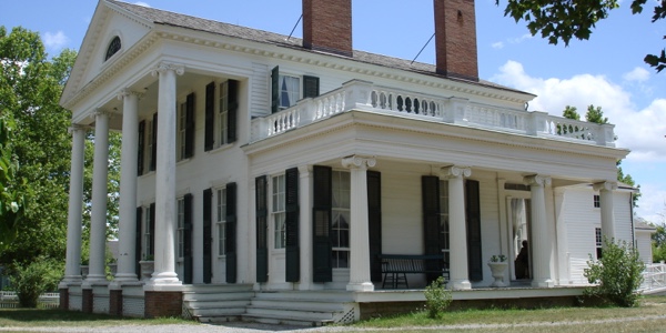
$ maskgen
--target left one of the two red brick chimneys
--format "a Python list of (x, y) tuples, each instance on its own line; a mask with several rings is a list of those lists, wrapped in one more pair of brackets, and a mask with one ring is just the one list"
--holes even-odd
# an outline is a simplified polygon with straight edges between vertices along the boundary
[(303, 47), (352, 57), (352, 0), (303, 0)]

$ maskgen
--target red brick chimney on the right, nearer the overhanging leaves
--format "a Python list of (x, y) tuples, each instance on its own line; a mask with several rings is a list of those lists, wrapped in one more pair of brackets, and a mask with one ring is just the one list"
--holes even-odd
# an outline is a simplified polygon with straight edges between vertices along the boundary
[(437, 73), (478, 81), (474, 0), (434, 0)]

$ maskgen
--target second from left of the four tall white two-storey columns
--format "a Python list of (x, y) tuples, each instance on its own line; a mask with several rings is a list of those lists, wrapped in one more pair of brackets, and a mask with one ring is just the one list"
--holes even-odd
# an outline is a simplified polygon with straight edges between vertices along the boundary
[(109, 113), (94, 115), (94, 162), (92, 164), (92, 211), (90, 216), (90, 272), (87, 282), (107, 281), (107, 195), (109, 182)]

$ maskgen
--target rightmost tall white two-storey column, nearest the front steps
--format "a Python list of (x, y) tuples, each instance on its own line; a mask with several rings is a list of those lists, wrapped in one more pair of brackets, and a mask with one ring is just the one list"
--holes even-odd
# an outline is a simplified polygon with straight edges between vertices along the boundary
[(180, 285), (175, 273), (175, 75), (182, 65), (161, 63), (158, 98), (158, 160), (155, 170), (154, 272), (149, 284)]

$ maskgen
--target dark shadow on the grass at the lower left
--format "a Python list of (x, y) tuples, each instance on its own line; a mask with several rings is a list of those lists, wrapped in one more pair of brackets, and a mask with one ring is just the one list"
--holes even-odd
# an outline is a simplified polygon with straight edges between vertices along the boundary
[[(36, 323), (49, 322), (61, 323), (61, 322), (90, 322), (90, 321), (125, 321), (135, 319), (127, 319), (120, 316), (112, 316), (108, 314), (90, 314), (79, 311), (64, 311), (57, 309), (0, 309), (0, 323), (13, 322), (26, 322)], [(0, 324), (2, 326), (2, 324)]]

